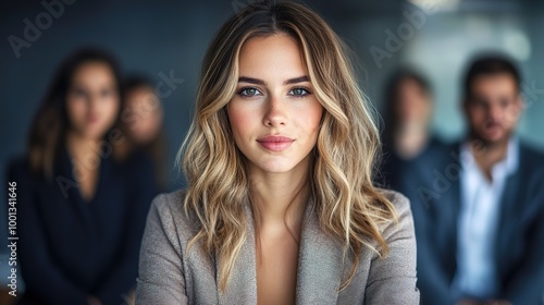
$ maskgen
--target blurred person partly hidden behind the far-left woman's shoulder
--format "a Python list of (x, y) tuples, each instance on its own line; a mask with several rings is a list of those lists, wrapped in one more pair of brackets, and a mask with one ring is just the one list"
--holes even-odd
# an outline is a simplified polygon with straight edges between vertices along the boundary
[(115, 145), (113, 152), (121, 161), (147, 155), (153, 161), (158, 192), (166, 191), (164, 113), (161, 100), (150, 81), (131, 76), (124, 85), (124, 98), (119, 129), (126, 141)]

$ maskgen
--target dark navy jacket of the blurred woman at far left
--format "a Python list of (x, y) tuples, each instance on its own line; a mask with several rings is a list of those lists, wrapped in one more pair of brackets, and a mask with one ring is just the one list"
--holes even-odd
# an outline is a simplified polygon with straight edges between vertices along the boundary
[(136, 284), (138, 251), (154, 196), (150, 160), (125, 164), (102, 158), (95, 197), (81, 196), (65, 149), (52, 181), (30, 172), (26, 159), (9, 168), (17, 194), (17, 268), (26, 292), (20, 304), (122, 304)]

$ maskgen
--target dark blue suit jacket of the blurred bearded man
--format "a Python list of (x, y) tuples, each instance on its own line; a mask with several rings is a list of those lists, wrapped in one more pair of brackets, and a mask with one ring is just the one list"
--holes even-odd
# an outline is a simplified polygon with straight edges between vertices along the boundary
[[(411, 202), (422, 304), (454, 304), (460, 209), (459, 143), (435, 147), (401, 173), (395, 188)], [(543, 304), (544, 156), (520, 143), (518, 171), (500, 200), (495, 261), (500, 293), (514, 304)]]

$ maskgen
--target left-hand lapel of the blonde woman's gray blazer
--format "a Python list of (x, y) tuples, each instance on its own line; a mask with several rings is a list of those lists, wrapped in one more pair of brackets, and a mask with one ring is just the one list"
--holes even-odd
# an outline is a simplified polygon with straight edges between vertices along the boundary
[(251, 207), (244, 207), (247, 221), (247, 240), (228, 278), (225, 292), (219, 290), (219, 261), (215, 259), (215, 283), (219, 304), (257, 304), (257, 269), (255, 257), (255, 228)]

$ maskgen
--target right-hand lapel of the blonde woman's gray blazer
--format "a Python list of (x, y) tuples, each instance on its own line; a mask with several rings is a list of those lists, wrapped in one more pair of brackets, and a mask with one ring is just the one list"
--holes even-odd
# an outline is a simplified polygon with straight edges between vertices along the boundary
[(313, 200), (306, 207), (300, 236), (297, 304), (336, 304), (343, 274), (342, 245), (323, 232)]

